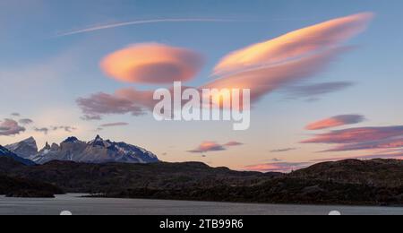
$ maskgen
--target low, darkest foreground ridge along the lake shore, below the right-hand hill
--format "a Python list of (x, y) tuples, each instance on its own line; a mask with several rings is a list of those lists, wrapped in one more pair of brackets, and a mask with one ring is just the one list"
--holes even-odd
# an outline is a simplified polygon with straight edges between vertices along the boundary
[(277, 177), (255, 186), (136, 188), (98, 197), (241, 203), (403, 205), (403, 187), (376, 187), (323, 180)]

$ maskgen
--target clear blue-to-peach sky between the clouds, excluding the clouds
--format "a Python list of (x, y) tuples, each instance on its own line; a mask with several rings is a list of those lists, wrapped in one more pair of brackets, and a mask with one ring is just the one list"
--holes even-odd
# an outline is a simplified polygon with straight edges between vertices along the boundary
[[(358, 126), (402, 125), (403, 15), (399, 0), (376, 1), (39, 1), (4, 0), (0, 3), (0, 105), (1, 119), (30, 118), (21, 134), (0, 135), (0, 144), (34, 135), (39, 145), (61, 142), (71, 134), (90, 140), (96, 134), (146, 147), (161, 160), (201, 160), (212, 166), (242, 169), (281, 160), (311, 162), (351, 157), (378, 151), (317, 153), (323, 144), (301, 144), (316, 132), (304, 126), (339, 115), (363, 115)], [(227, 123), (157, 123), (152, 116), (111, 115), (102, 121), (81, 120), (76, 99), (99, 91), (155, 85), (116, 82), (103, 73), (100, 61), (116, 50), (154, 42), (185, 47), (205, 57), (206, 64), (193, 81), (199, 86), (211, 80), (210, 72), (232, 51), (258, 42), (354, 13), (371, 12), (375, 18), (367, 30), (350, 39), (353, 49), (333, 61), (324, 72), (304, 83), (349, 82), (352, 86), (316, 96), (287, 99), (287, 87), (270, 92), (252, 112), (252, 127), (234, 132)], [(116, 22), (155, 19), (218, 19), (232, 22), (160, 22), (97, 30), (71, 36), (59, 33)], [(314, 101), (313, 101), (314, 100)], [(13, 112), (21, 116), (10, 116)], [(97, 132), (99, 125), (129, 125)], [(73, 132), (42, 134), (34, 128), (69, 125)], [(342, 126), (343, 128), (343, 126)], [(187, 151), (201, 142), (242, 142), (225, 151), (206, 152), (206, 157)], [(273, 153), (279, 149), (293, 149)], [(382, 151), (383, 152), (383, 151)]]

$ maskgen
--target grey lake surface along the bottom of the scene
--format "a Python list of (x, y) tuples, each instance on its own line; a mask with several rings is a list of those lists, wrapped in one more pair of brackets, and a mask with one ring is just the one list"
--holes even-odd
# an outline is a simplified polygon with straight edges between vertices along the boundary
[(57, 195), (54, 199), (0, 196), (1, 215), (400, 215), (399, 207), (316, 206), (249, 203), (210, 203), (139, 199), (81, 198), (82, 194)]

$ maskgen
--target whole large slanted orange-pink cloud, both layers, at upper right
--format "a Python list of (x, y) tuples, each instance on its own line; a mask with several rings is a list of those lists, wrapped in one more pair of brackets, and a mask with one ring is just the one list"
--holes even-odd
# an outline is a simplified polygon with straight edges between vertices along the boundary
[(348, 50), (342, 43), (366, 27), (373, 13), (359, 13), (290, 32), (225, 56), (214, 68), (210, 88), (248, 88), (252, 100), (321, 73)]

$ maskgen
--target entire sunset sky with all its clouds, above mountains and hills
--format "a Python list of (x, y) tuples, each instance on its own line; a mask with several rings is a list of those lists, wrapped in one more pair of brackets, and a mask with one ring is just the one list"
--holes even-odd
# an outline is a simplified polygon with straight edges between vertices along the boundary
[[(400, 0), (3, 0), (0, 144), (128, 142), (290, 171), (403, 158)], [(158, 122), (152, 91), (248, 88), (251, 126)], [(171, 83), (171, 84), (170, 84)]]

